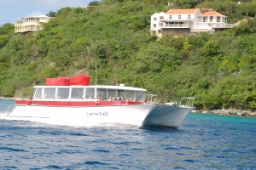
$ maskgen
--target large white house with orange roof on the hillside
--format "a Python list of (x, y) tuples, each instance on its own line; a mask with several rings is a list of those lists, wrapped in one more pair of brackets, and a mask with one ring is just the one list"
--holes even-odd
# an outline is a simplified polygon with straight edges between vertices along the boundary
[(223, 30), (233, 27), (227, 24), (224, 14), (211, 11), (201, 14), (199, 8), (170, 9), (167, 13), (151, 15), (150, 31), (157, 37), (162, 37), (168, 31), (175, 35), (192, 32)]

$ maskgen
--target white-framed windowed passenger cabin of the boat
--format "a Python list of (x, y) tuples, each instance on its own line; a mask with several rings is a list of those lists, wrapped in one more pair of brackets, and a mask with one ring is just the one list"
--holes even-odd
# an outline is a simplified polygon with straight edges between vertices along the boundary
[(35, 86), (33, 100), (143, 101), (146, 92), (125, 86)]

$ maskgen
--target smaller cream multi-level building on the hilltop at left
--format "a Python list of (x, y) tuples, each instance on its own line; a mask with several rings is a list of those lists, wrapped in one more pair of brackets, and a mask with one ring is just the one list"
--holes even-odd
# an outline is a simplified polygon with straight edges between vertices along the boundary
[(40, 15), (24, 17), (15, 24), (15, 32), (38, 31), (42, 30), (42, 23), (47, 23), (51, 17)]

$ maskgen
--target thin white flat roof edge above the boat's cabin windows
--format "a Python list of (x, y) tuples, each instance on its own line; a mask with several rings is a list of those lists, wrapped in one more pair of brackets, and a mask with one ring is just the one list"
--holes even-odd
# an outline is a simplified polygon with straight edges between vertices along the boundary
[(117, 90), (133, 90), (147, 92), (145, 88), (133, 88), (126, 86), (112, 86), (112, 85), (94, 85), (94, 86), (34, 86), (34, 88), (108, 88)]

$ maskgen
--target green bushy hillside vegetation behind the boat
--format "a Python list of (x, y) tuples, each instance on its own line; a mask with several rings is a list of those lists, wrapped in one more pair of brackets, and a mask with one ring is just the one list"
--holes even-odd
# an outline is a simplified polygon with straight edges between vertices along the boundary
[[(214, 34), (158, 39), (150, 16), (167, 0), (104, 0), (89, 8), (61, 8), (44, 30), (15, 34), (0, 27), (0, 96), (30, 97), (46, 77), (89, 74), (91, 83), (147, 88), (161, 99), (195, 96), (198, 109), (256, 109), (255, 1), (175, 0), (180, 8), (213, 8), (229, 22)], [(97, 73), (97, 74), (95, 74)]]

